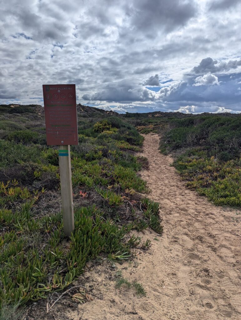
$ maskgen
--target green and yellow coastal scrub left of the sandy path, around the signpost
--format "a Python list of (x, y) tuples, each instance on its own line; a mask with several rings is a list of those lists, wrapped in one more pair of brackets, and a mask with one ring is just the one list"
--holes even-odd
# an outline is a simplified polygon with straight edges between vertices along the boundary
[[(63, 290), (89, 260), (130, 259), (140, 243), (131, 230), (163, 231), (159, 204), (142, 196), (148, 189), (138, 171), (147, 161), (135, 152), (143, 137), (118, 116), (83, 106), (77, 110), (79, 145), (71, 146), (75, 230), (65, 239), (58, 150), (45, 145), (41, 109), (0, 108), (5, 121), (0, 129), (3, 312), (15, 313), (16, 307)], [(18, 126), (22, 117), (28, 121)]]

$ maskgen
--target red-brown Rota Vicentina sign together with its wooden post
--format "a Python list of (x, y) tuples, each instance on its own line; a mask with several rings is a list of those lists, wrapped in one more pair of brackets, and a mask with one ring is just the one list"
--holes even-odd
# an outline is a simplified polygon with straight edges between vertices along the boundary
[(78, 144), (75, 84), (44, 84), (47, 145), (59, 145), (64, 234), (74, 230), (70, 145)]

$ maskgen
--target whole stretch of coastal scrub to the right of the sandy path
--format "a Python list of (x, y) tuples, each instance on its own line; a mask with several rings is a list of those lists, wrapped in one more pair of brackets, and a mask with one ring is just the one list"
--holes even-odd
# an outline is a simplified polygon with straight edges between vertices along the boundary
[(241, 115), (127, 114), (141, 133), (160, 134), (160, 150), (189, 188), (217, 205), (241, 205)]

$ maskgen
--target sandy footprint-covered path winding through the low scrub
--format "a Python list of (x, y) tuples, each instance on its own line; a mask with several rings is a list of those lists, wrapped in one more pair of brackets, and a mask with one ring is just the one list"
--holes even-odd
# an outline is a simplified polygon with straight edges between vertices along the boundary
[(56, 304), (46, 319), (241, 319), (241, 212), (214, 206), (187, 189), (170, 167), (173, 159), (159, 153), (158, 142), (156, 134), (145, 136), (141, 155), (150, 168), (141, 176), (152, 190), (149, 197), (161, 204), (163, 236), (140, 234), (151, 239), (151, 248), (116, 265), (129, 281), (143, 284), (146, 297), (116, 289), (116, 270), (106, 272), (103, 265), (84, 274), (93, 301), (64, 314)]

